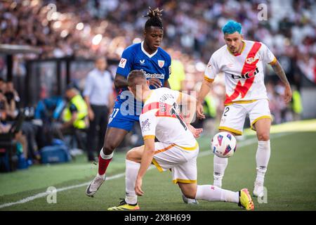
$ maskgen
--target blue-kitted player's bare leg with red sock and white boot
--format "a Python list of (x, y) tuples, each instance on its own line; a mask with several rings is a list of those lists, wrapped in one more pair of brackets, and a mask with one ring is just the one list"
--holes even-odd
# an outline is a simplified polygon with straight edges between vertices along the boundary
[(107, 170), (107, 166), (110, 164), (113, 158), (113, 151), (121, 141), (123, 141), (125, 135), (128, 131), (124, 129), (118, 129), (114, 127), (108, 127), (107, 132), (105, 134), (105, 140), (103, 148), (100, 150), (99, 155), (99, 167), (98, 174), (91, 181), (91, 184), (86, 188), (86, 195), (89, 197), (93, 197), (96, 194), (100, 186), (105, 181), (105, 172)]

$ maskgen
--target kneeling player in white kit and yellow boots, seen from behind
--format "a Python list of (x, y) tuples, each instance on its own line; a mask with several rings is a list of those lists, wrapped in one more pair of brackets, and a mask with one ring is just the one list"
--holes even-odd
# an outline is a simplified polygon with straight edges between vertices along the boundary
[[(202, 129), (190, 125), (195, 115), (195, 98), (167, 88), (150, 90), (149, 82), (140, 70), (130, 72), (127, 81), (129, 90), (144, 103), (140, 127), (145, 145), (126, 154), (126, 197), (108, 210), (140, 209), (137, 195), (144, 194), (142, 180), (151, 163), (160, 172), (171, 169), (173, 183), (178, 184), (186, 198), (237, 203), (246, 210), (254, 210), (246, 188), (233, 192), (212, 185), (197, 185), (199, 145), (195, 137)], [(178, 113), (181, 103), (194, 105), (186, 120)], [(159, 142), (154, 142), (155, 137)]]

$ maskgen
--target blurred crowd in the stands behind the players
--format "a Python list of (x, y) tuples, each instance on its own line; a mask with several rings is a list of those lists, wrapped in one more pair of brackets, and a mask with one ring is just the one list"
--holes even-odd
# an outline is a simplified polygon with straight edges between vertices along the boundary
[[(267, 6), (266, 20), (258, 20), (261, 8)], [(221, 27), (228, 19), (242, 23), (245, 39), (263, 41), (280, 63), (294, 85), (296, 103), (282, 105), (283, 86), (270, 68), (266, 82), (270, 108), (275, 123), (298, 119), (303, 110), (299, 89), (302, 77), (316, 83), (316, 4), (313, 0), (292, 1), (159, 1), (159, 0), (16, 0), (0, 2), (0, 44), (38, 46), (39, 56), (16, 55), (14, 75), (25, 75), (25, 60), (34, 58), (91, 58), (106, 56), (119, 60), (122, 51), (142, 40), (148, 6), (163, 8), (163, 48), (171, 54), (173, 89), (197, 91), (204, 77), (204, 69), (211, 53), (223, 46)], [(6, 73), (0, 58), (0, 75)], [(114, 76), (112, 70), (112, 75)], [(3, 83), (3, 82), (2, 82)], [(18, 102), (10, 82), (6, 96), (0, 86), (1, 103), (8, 106), (7, 117), (14, 117), (10, 99)], [(206, 99), (206, 112), (219, 118), (223, 111), (225, 86), (218, 77)], [(1, 107), (4, 107), (4, 106)], [(7, 107), (6, 106), (6, 107)], [(2, 118), (2, 114), (1, 114)], [(24, 127), (24, 133), (32, 127)], [(33, 127), (36, 127), (35, 125)], [(34, 129), (34, 128), (33, 128)], [(2, 130), (2, 127), (1, 127)], [(31, 132), (32, 133), (32, 132)], [(37, 133), (36, 133), (37, 134)], [(29, 136), (27, 136), (29, 135)], [(35, 138), (27, 134), (30, 151), (36, 158)]]

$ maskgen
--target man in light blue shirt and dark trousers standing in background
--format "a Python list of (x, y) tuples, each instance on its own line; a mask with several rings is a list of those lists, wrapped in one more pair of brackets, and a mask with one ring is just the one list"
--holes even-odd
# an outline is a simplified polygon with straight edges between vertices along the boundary
[(93, 151), (100, 150), (103, 146), (109, 109), (113, 105), (113, 81), (106, 68), (107, 60), (105, 57), (96, 58), (95, 68), (88, 73), (84, 88), (84, 100), (88, 105), (88, 118), (90, 120), (87, 136), (88, 161), (95, 160)]

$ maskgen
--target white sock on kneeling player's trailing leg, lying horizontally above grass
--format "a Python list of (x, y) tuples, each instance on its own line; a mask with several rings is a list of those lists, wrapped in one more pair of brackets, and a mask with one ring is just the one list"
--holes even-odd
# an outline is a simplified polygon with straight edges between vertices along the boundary
[(198, 185), (196, 199), (208, 200), (210, 202), (239, 203), (239, 192), (228, 191), (213, 185)]

